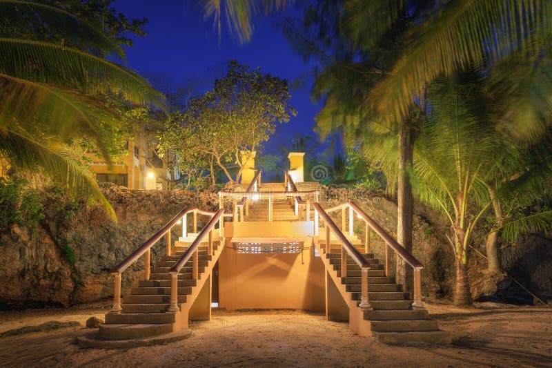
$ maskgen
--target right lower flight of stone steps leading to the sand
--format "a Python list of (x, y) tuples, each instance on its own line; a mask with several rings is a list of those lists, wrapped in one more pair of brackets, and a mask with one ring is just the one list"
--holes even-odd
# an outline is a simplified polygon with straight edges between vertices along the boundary
[[(347, 236), (359, 252), (364, 251), (360, 240), (355, 235)], [(319, 229), (319, 251), (325, 249), (325, 230)], [(358, 305), (361, 296), (361, 270), (352, 258), (347, 258), (347, 275), (342, 277), (341, 244), (335, 237), (330, 240), (331, 251), (322, 254), (324, 264), (334, 278), (345, 287), (346, 295), (354, 305)], [(386, 344), (404, 342), (428, 342), (432, 344), (450, 344), (451, 333), (439, 329), (438, 322), (431, 320), (426, 309), (411, 309), (411, 294), (402, 290), (385, 276), (384, 264), (371, 253), (362, 254), (371, 269), (368, 271), (368, 300), (373, 310), (364, 311), (364, 320), (369, 321), (372, 336)]]

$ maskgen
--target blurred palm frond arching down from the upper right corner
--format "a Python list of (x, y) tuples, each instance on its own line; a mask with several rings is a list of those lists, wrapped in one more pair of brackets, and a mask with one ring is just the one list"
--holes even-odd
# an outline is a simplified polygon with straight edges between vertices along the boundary
[(536, 55), (551, 37), (549, 0), (450, 1), (417, 30), (389, 77), (368, 102), (400, 121), (422, 88), (438, 75), (482, 66), (512, 52)]

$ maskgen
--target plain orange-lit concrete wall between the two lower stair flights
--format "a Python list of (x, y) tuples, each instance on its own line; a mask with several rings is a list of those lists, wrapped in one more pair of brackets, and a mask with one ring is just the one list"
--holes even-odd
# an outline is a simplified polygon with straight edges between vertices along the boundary
[(244, 254), (226, 248), (219, 258), (219, 306), (235, 309), (324, 311), (324, 264), (313, 249)]

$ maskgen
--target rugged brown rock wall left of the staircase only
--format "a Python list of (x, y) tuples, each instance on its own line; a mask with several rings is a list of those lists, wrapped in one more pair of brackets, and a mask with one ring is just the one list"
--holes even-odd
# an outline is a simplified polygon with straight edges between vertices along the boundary
[[(104, 193), (117, 213), (117, 223), (108, 220), (102, 209), (86, 204), (68, 217), (55, 201), (47, 200), (46, 218), (34, 233), (12, 226), (10, 233), (0, 235), (0, 308), (67, 306), (112, 296), (110, 269), (170, 218), (189, 206), (218, 206), (214, 192), (111, 187)], [(161, 255), (163, 240), (152, 248), (154, 260)], [(123, 292), (140, 278), (143, 269), (140, 259), (123, 273)]]

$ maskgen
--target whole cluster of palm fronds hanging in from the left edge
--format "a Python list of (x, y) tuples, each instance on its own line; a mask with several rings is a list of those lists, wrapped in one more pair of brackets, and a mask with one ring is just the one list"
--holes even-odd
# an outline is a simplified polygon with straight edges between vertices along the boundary
[[(113, 119), (99, 91), (159, 106), (162, 96), (139, 75), (88, 50), (124, 56), (97, 26), (34, 1), (0, 1), (0, 156), (43, 168), (70, 191), (110, 204), (90, 173), (63, 149), (75, 134), (95, 140), (107, 159), (101, 122)], [(71, 45), (81, 45), (79, 50)]]

